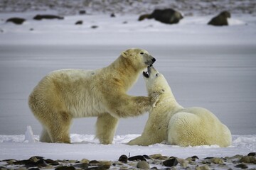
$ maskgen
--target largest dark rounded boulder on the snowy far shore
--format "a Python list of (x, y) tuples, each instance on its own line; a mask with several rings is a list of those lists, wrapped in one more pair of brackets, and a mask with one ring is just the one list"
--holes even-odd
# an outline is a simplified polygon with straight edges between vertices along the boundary
[(172, 8), (166, 9), (155, 9), (153, 13), (151, 13), (147, 18), (154, 18), (156, 21), (160, 21), (161, 23), (178, 23), (183, 16), (178, 11), (175, 11)]

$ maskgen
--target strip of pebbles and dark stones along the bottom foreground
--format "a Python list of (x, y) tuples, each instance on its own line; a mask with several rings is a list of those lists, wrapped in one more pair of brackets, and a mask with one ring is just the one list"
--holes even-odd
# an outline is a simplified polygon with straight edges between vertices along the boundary
[(167, 157), (161, 154), (137, 155), (127, 157), (121, 155), (117, 161), (78, 160), (52, 160), (43, 157), (31, 157), (25, 160), (6, 159), (0, 161), (0, 170), (75, 170), (75, 169), (256, 169), (256, 152), (233, 157), (206, 157), (197, 156), (181, 159)]

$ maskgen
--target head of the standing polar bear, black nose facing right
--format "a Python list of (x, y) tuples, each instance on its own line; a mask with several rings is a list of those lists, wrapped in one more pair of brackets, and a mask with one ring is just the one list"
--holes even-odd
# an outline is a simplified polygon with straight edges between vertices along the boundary
[(149, 52), (139, 48), (131, 48), (122, 52), (122, 57), (134, 69), (145, 69), (156, 61), (154, 57), (149, 55)]

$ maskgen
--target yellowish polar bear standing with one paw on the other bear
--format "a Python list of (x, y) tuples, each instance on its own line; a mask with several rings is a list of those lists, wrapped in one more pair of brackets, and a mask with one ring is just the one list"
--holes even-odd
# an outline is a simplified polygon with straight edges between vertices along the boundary
[(119, 118), (149, 111), (157, 96), (127, 94), (143, 69), (156, 61), (149, 52), (129, 49), (107, 67), (50, 72), (31, 92), (28, 105), (43, 125), (41, 142), (70, 143), (73, 118), (97, 116), (96, 137), (111, 144)]

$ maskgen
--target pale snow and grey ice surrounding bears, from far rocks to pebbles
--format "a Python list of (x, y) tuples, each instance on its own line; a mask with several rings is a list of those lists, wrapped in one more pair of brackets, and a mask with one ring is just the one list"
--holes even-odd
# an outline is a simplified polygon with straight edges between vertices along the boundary
[[(0, 13), (0, 159), (40, 155), (116, 160), (129, 153), (203, 158), (256, 152), (255, 16), (237, 13), (230, 18), (230, 26), (213, 27), (206, 23), (215, 15), (186, 16), (177, 25), (165, 25), (154, 20), (139, 22), (138, 15), (125, 13), (117, 13), (115, 18), (99, 13), (33, 21), (37, 13)], [(27, 21), (21, 26), (5, 23), (14, 16)], [(83, 25), (75, 26), (78, 20)], [(24, 142), (27, 125), (36, 139), (41, 132), (27, 99), (44, 75), (55, 69), (105, 67), (131, 47), (144, 48), (156, 58), (154, 67), (164, 74), (182, 106), (208, 108), (228, 125), (233, 145), (125, 145), (142, 133), (147, 113), (120, 120), (113, 145), (99, 145), (94, 140), (95, 118), (74, 120), (73, 145)], [(129, 94), (146, 96), (142, 77)]]

